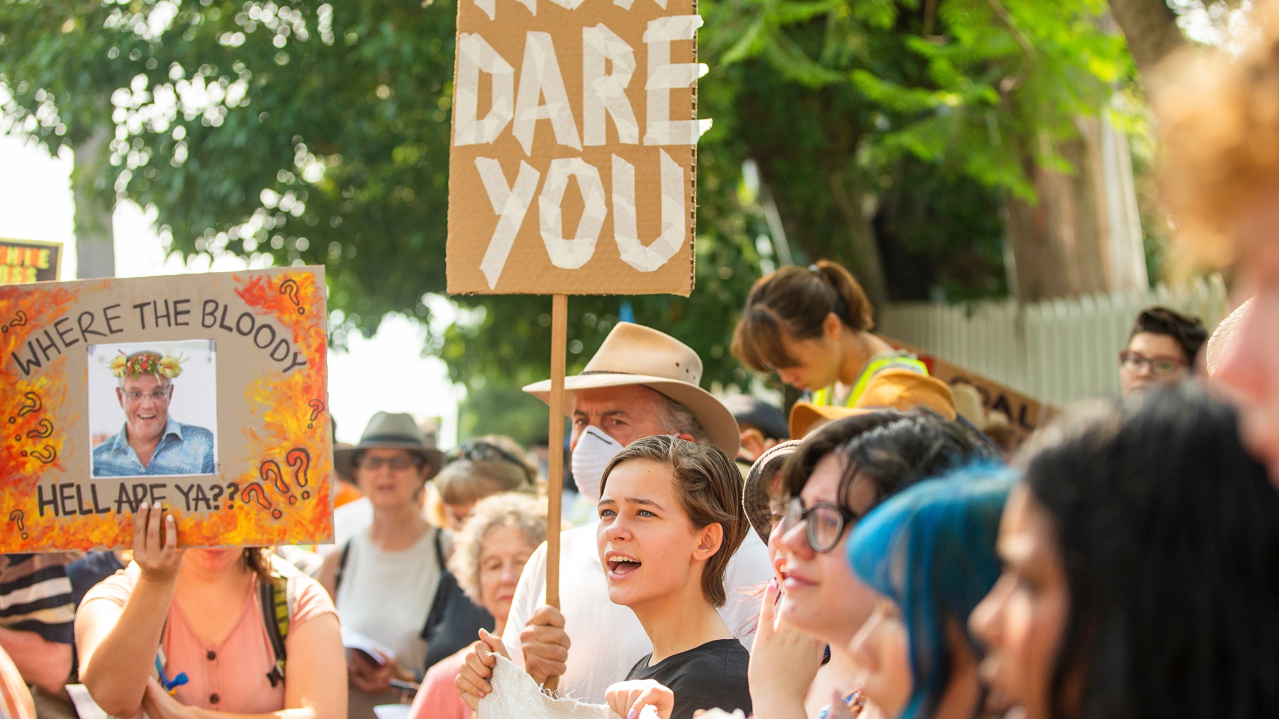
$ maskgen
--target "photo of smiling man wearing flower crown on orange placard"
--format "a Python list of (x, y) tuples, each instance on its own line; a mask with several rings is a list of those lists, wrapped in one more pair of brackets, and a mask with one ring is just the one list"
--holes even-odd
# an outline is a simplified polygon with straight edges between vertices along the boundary
[[(202, 357), (197, 363), (207, 363), (211, 371), (212, 343), (202, 344), (208, 347), (207, 358)], [(101, 345), (93, 349), (100, 351)], [(105, 391), (109, 389), (106, 386), (100, 386), (92, 394), (95, 399), (101, 400), (101, 404), (118, 404), (119, 411), (124, 413), (124, 423), (123, 426), (118, 423), (119, 411), (111, 407), (116, 422), (114, 426), (119, 430), (107, 436), (101, 431), (95, 434), (93, 477), (211, 475), (216, 471), (214, 432), (194, 423), (180, 422), (171, 413), (175, 395), (182, 395), (188, 389), (194, 394), (206, 394), (201, 391), (206, 389), (201, 386), (205, 383), (196, 380), (188, 384), (184, 379), (183, 386), (178, 388), (175, 383), (183, 375), (189, 358), (182, 352), (169, 349), (165, 352), (161, 348), (145, 348), (125, 353), (124, 349), (116, 348), (116, 353), (110, 358), (107, 367), (115, 380), (115, 403), (106, 399)], [(91, 425), (104, 426), (105, 421), (111, 421), (102, 417), (104, 407), (97, 409), (98, 412), (93, 412), (91, 408), (91, 413), (97, 415), (91, 418)], [(198, 413), (206, 415), (206, 412)]]

